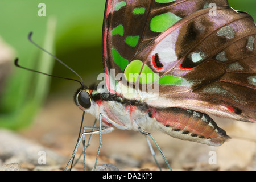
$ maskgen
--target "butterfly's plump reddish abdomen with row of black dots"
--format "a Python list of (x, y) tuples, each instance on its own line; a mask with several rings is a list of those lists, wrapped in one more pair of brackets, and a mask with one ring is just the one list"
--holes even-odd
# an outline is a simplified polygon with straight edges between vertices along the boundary
[(151, 116), (162, 123), (162, 130), (175, 138), (219, 146), (229, 136), (207, 114), (197, 111), (168, 108), (154, 110)]

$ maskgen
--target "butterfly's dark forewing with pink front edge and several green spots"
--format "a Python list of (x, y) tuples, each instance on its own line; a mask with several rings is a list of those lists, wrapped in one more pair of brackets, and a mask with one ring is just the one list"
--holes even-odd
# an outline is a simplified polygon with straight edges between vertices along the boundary
[[(197, 3), (193, 0), (159, 2), (161, 1), (106, 1), (102, 50), (104, 71), (110, 92), (116, 92), (115, 76), (123, 73), (133, 57), (162, 33), (157, 24), (159, 20), (154, 18), (155, 16), (164, 14), (163, 18), (164, 16), (174, 18), (174, 21), (167, 22), (167, 29), (175, 21), (209, 6), (212, 2), (219, 6), (228, 6), (226, 0), (200, 0)], [(151, 27), (158, 30), (151, 31)], [(110, 74), (111, 69), (114, 69), (113, 75)]]

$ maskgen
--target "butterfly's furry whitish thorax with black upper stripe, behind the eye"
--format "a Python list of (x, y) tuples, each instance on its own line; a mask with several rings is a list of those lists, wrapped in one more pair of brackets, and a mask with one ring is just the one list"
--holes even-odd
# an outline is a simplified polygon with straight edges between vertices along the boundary
[[(138, 118), (146, 118), (150, 112), (150, 107), (145, 102), (130, 100), (118, 93), (103, 92), (101, 89), (91, 89), (89, 93), (92, 106), (88, 112), (97, 119), (100, 113), (103, 114), (117, 123), (117, 127), (120, 125), (119, 129), (137, 130), (138, 124), (135, 121)], [(102, 118), (102, 122), (106, 126), (113, 126), (106, 118)]]

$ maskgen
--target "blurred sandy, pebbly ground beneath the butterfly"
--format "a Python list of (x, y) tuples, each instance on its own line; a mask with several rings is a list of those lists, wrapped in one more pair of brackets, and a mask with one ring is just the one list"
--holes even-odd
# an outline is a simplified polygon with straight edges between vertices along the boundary
[[(81, 117), (82, 111), (70, 98), (49, 98), (28, 129), (19, 133), (0, 130), (0, 170), (63, 170), (75, 147)], [(86, 126), (92, 126), (93, 121), (91, 115), (85, 115)], [(255, 123), (216, 122), (232, 137), (220, 147), (174, 139), (158, 132), (152, 135), (174, 170), (256, 170)], [(98, 135), (93, 135), (86, 151), (86, 170), (94, 166), (98, 143)], [(115, 129), (102, 135), (102, 143), (98, 165), (113, 164), (119, 170), (159, 170), (140, 133)], [(154, 150), (160, 166), (167, 170), (155, 146)], [(80, 146), (76, 156), (81, 151)], [(43, 154), (45, 161), (40, 158)], [(73, 169), (82, 170), (82, 159)]]

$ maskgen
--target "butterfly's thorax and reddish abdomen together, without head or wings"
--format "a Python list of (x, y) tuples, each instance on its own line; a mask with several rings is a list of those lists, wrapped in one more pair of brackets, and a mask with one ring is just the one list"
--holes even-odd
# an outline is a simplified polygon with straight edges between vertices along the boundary
[(152, 107), (143, 101), (129, 100), (118, 93), (88, 89), (88, 113), (108, 127), (123, 130), (158, 130), (172, 137), (218, 146), (229, 137), (207, 114), (177, 107)]

